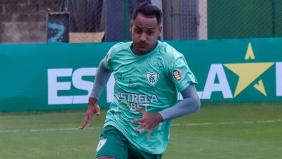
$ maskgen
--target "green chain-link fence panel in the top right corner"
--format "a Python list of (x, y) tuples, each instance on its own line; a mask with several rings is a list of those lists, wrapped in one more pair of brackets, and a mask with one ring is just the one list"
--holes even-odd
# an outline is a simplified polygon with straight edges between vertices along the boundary
[(282, 0), (208, 0), (208, 39), (282, 36)]

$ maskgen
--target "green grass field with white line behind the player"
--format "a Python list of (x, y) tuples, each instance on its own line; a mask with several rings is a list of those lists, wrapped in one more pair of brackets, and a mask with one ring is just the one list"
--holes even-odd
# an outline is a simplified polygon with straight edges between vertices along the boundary
[[(106, 110), (0, 113), (0, 159), (94, 159)], [(282, 104), (202, 104), (175, 119), (162, 159), (282, 159)]]

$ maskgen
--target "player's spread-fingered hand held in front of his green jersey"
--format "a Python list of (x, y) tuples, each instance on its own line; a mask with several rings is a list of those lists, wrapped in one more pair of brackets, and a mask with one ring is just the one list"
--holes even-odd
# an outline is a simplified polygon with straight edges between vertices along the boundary
[(141, 124), (136, 128), (136, 130), (139, 130), (140, 128), (143, 128), (141, 131), (139, 131), (140, 134), (145, 132), (148, 129), (148, 135), (147, 139), (150, 138), (153, 129), (162, 122), (163, 118), (160, 113), (149, 113), (147, 111), (141, 110), (139, 106), (137, 106), (137, 110), (143, 115), (141, 119), (132, 120), (132, 123), (140, 122)]

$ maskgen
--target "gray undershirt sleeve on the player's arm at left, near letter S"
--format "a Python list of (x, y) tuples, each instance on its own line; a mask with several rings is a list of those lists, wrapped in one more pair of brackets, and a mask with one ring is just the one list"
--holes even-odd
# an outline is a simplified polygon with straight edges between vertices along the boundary
[(99, 99), (101, 93), (103, 92), (104, 88), (107, 85), (107, 82), (111, 76), (112, 72), (110, 70), (107, 70), (104, 66), (104, 60), (102, 60), (99, 64), (92, 92), (90, 94), (91, 98)]

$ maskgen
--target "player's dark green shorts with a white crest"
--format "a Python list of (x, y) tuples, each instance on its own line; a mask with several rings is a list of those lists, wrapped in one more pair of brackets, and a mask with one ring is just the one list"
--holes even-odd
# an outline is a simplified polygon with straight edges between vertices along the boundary
[(99, 137), (95, 158), (111, 156), (115, 159), (161, 159), (162, 155), (149, 154), (132, 145), (115, 127), (104, 127)]

